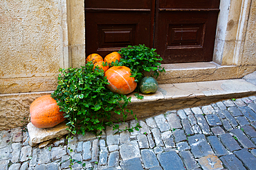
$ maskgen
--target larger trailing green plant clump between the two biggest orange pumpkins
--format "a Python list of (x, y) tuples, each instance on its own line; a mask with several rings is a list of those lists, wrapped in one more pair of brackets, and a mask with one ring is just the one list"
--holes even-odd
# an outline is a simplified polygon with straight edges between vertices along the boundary
[[(106, 88), (109, 84), (104, 72), (93, 70), (93, 63), (85, 67), (60, 69), (58, 85), (52, 97), (64, 111), (68, 131), (72, 134), (85, 134), (85, 131), (102, 131), (112, 125), (111, 112), (122, 115), (133, 114), (126, 109), (131, 98), (116, 94)], [(118, 129), (118, 125), (114, 128)]]

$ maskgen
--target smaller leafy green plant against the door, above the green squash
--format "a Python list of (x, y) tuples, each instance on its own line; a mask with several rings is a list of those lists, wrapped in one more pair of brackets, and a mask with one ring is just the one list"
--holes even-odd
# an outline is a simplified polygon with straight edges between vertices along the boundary
[(159, 72), (164, 72), (165, 69), (160, 63), (163, 59), (155, 51), (156, 49), (149, 49), (145, 45), (129, 45), (118, 52), (122, 56), (118, 65), (129, 67), (136, 82), (141, 81), (145, 72), (153, 72), (151, 76), (157, 78)]

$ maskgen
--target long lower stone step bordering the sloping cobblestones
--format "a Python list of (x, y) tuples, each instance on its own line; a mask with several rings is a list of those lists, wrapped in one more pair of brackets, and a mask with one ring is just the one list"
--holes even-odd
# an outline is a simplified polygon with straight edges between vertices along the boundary
[[(222, 81), (202, 81), (192, 83), (160, 84), (155, 94), (140, 94), (139, 100), (131, 96), (128, 109), (134, 111), (137, 118), (147, 118), (163, 114), (163, 111), (210, 105), (220, 100), (239, 98), (256, 94), (256, 85), (244, 79)], [(114, 115), (115, 118), (120, 118)], [(127, 120), (134, 119), (128, 115)]]

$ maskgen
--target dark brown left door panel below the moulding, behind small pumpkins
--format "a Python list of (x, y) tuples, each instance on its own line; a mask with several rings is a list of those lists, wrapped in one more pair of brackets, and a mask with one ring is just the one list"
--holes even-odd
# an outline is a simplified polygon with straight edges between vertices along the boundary
[(150, 46), (149, 12), (86, 12), (86, 54), (102, 57), (127, 45)]

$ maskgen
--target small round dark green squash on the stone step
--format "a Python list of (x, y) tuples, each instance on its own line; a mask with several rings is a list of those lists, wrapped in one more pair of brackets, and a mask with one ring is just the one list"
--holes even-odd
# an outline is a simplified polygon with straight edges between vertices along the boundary
[(140, 81), (140, 92), (143, 94), (156, 93), (158, 89), (158, 83), (155, 78), (151, 76), (145, 76)]

